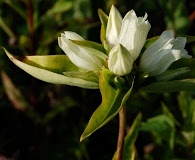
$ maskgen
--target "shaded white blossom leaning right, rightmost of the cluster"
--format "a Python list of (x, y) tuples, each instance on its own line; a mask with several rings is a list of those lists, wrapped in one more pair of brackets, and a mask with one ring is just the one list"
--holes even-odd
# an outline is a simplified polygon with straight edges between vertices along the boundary
[(140, 71), (149, 76), (157, 76), (180, 58), (191, 58), (184, 49), (186, 38), (174, 39), (173, 31), (164, 31), (143, 53)]

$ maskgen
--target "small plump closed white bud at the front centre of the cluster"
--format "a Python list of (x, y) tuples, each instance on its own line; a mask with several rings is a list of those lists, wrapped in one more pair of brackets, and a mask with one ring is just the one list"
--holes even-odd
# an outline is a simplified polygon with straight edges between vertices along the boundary
[(121, 44), (114, 46), (108, 59), (108, 68), (118, 76), (129, 74), (133, 67), (133, 57)]

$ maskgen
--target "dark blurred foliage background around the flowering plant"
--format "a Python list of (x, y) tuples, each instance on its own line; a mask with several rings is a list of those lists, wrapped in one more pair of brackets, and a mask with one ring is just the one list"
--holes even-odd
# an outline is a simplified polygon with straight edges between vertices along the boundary
[[(65, 30), (100, 42), (97, 10), (114, 4), (124, 16), (148, 14), (148, 38), (166, 29), (195, 36), (194, 0), (1, 0), (0, 46), (14, 55), (64, 54), (57, 37)], [(195, 56), (195, 44), (186, 45)], [(101, 103), (99, 90), (39, 81), (17, 68), (0, 50), (0, 160), (110, 160), (116, 149), (118, 117), (79, 142)], [(134, 92), (127, 124), (141, 112), (137, 159), (195, 159), (195, 91)], [(3, 160), (4, 160), (3, 159)]]

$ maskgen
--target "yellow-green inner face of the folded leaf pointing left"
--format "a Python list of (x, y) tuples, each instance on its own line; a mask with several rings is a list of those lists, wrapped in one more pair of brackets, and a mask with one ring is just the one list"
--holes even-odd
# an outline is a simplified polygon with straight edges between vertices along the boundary
[(95, 72), (82, 71), (75, 66), (66, 55), (26, 56), (21, 61), (55, 73), (63, 73), (67, 77), (81, 78), (99, 83), (99, 78)]

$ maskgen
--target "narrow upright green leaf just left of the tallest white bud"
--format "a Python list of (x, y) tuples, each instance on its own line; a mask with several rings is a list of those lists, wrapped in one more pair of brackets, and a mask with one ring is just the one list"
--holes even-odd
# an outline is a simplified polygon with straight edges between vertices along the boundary
[(108, 16), (101, 9), (98, 9), (98, 15), (102, 24), (101, 31), (100, 31), (100, 39), (102, 41), (102, 44), (104, 44), (106, 40), (106, 27), (108, 22)]

